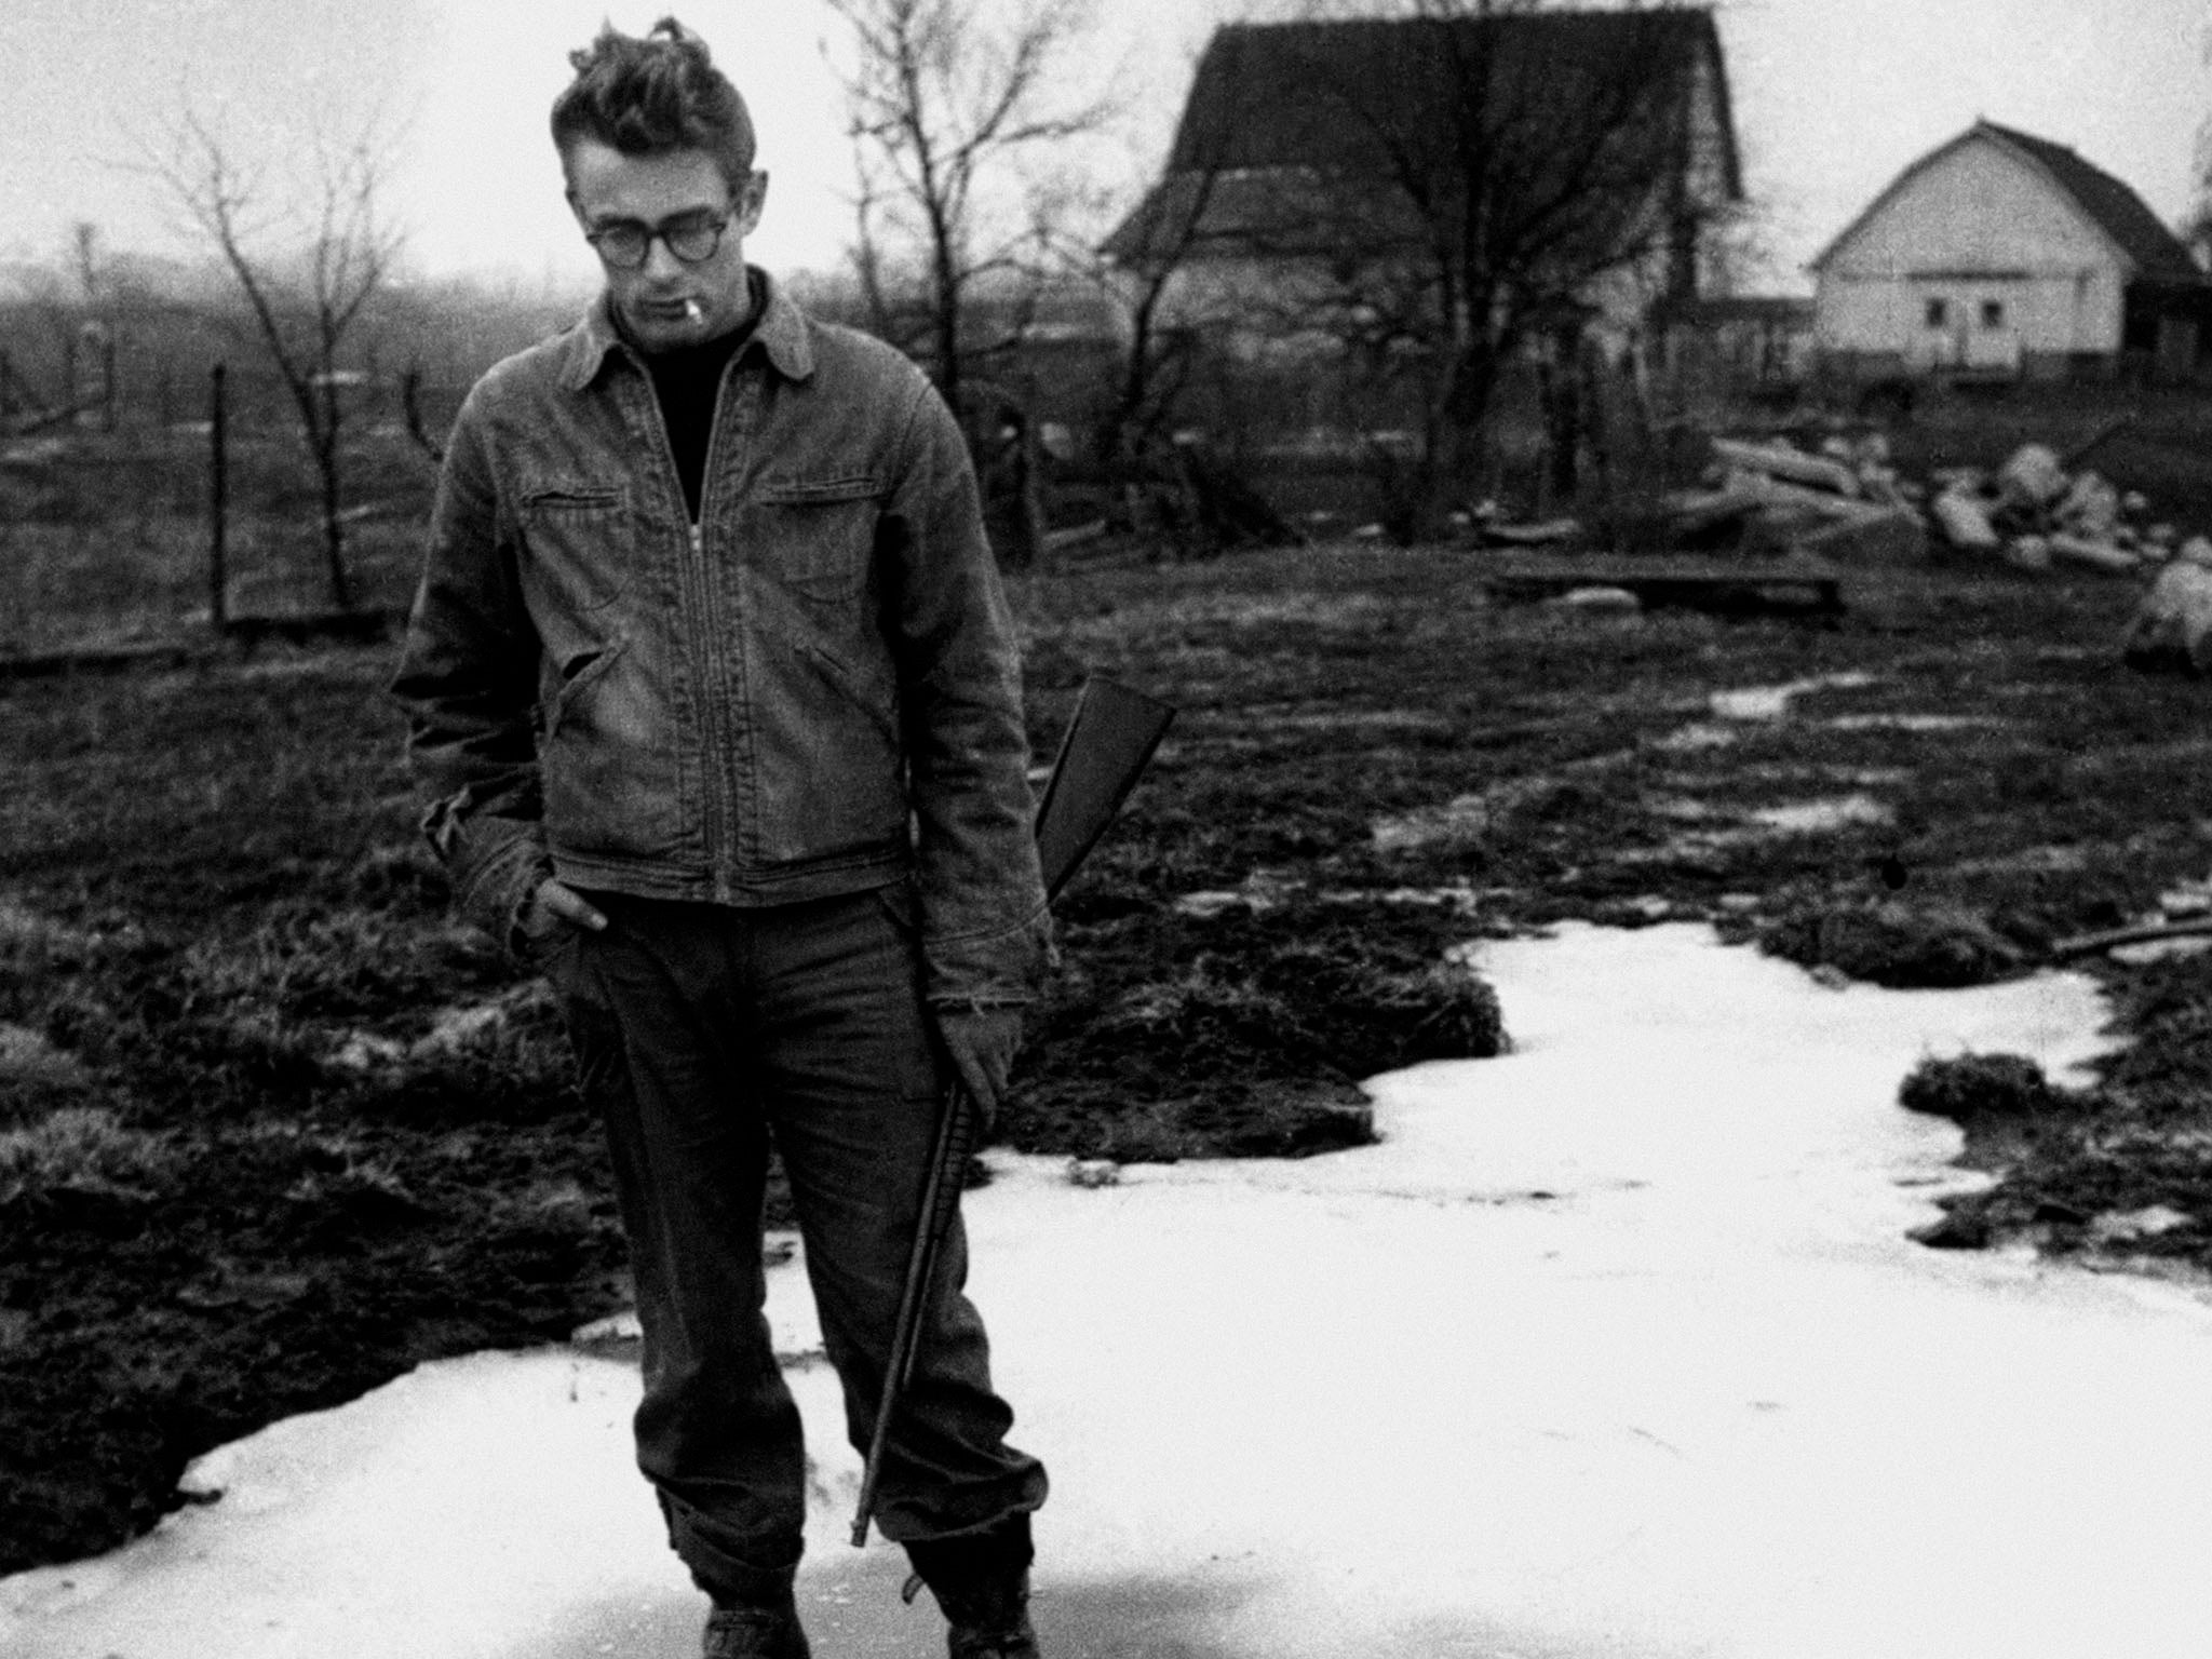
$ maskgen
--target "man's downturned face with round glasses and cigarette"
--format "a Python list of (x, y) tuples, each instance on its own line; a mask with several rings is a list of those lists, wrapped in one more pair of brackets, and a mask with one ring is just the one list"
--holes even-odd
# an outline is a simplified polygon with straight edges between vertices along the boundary
[[(584, 234), (655, 230), (646, 259), (624, 268), (602, 234), (599, 265), (606, 294), (628, 336), (646, 352), (697, 345), (728, 334), (745, 321), (752, 296), (745, 290), (745, 237), (761, 221), (768, 175), (754, 173), (734, 197), (714, 157), (706, 150), (624, 155), (597, 139), (575, 139), (564, 157), (568, 206)], [(684, 243), (686, 230), (728, 221), (714, 252), (684, 263), (668, 246), (668, 232)], [(686, 250), (688, 252), (688, 250)]]

